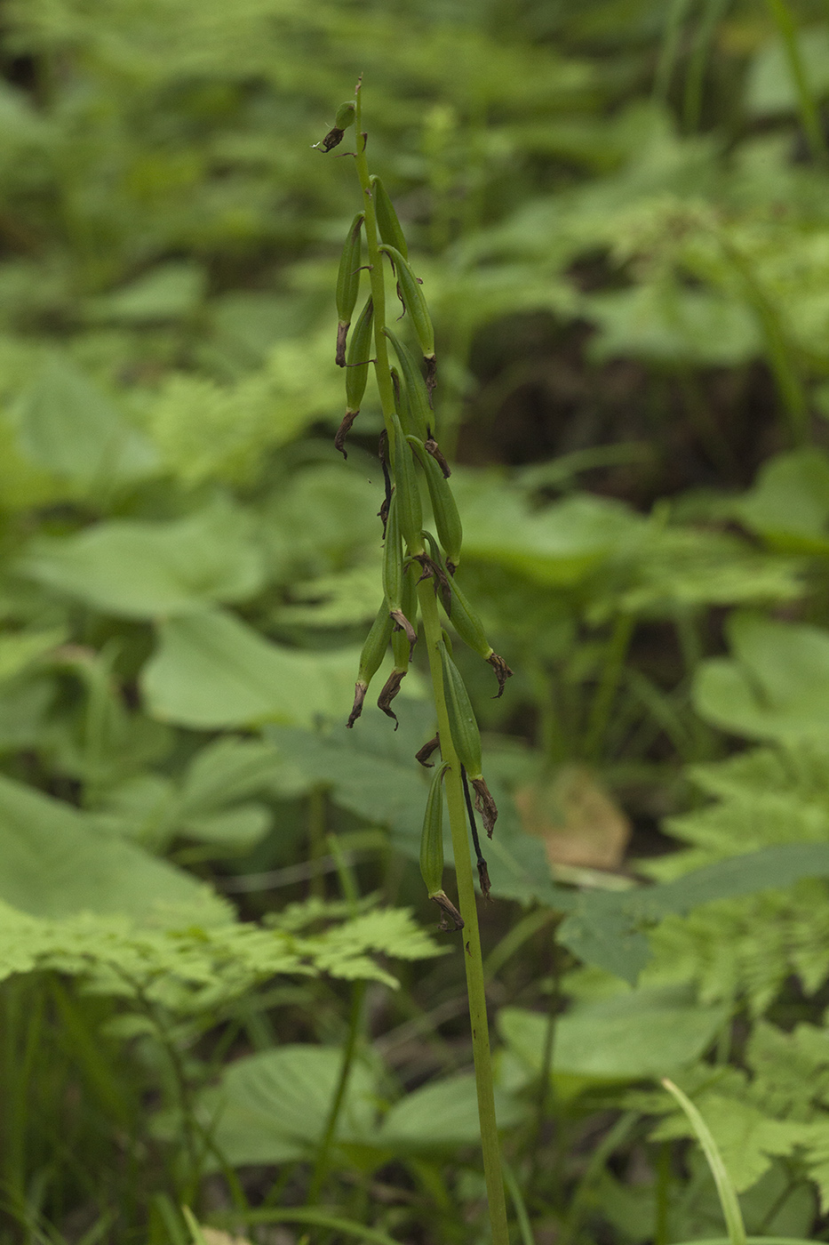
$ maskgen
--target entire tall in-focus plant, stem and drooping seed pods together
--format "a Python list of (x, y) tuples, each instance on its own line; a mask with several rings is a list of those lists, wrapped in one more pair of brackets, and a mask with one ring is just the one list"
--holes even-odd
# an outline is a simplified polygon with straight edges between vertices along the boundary
[[(390, 639), (395, 654), (395, 671), (381, 692), (378, 706), (388, 717), (395, 717), (391, 701), (408, 669), (419, 606), (422, 645), (426, 647), (428, 657), (438, 726), (438, 736), (433, 748), (439, 747), (443, 761), (443, 766), (436, 769), (438, 778), (433, 791), (437, 796), (427, 803), (427, 818), (429, 815), (438, 818), (437, 834), (432, 833), (428, 838), (428, 843), (432, 844), (431, 850), (437, 853), (437, 858), (424, 867), (423, 860), (428, 853), (422, 854), (421, 868), (424, 870), (424, 880), (427, 879), (426, 870), (432, 879), (427, 880), (427, 886), (429, 896), (438, 901), (444, 914), (443, 928), (451, 928), (452, 924), (456, 928), (462, 928), (462, 954), (469, 1000), (472, 1050), (492, 1240), (493, 1245), (509, 1245), (504, 1177), (495, 1122), (484, 971), (467, 823), (467, 813), (469, 812), (473, 819), (474, 813), (464, 791), (464, 772), (475, 793), (475, 807), (489, 833), (492, 833), (492, 825), (497, 817), (497, 808), (480, 771), (478, 727), (461, 675), (452, 661), (451, 647), (447, 644), (438, 608), (438, 591), (444, 615), (447, 620), (451, 620), (458, 636), (495, 670), (499, 695), (512, 671), (503, 659), (493, 652), (469, 603), (454, 583), (462, 532), (447, 483), (448, 466), (434, 439), (436, 427), (431, 393), (434, 382), (434, 347), (431, 319), (419, 290), (419, 281), (408, 265), (407, 245), (391, 200), (386, 197), (382, 184), (378, 183), (377, 178), (372, 178), (368, 171), (360, 83), (355, 100), (340, 107), (334, 129), (319, 147), (327, 152), (339, 146), (345, 131), (352, 123), (356, 129), (356, 149), (352, 154), (362, 192), (363, 219), (362, 225), (357, 218), (351, 227), (337, 280), (337, 312), (340, 317), (337, 362), (354, 369), (354, 374), (346, 374), (346, 418), (335, 443), (345, 453), (345, 435), (358, 415), (365, 383), (362, 376), (365, 375), (366, 352), (363, 351), (361, 356), (355, 357), (355, 351), (357, 342), (365, 347), (366, 341), (371, 341), (370, 337), (365, 336), (365, 325), (367, 322), (366, 315), (373, 314), (375, 357), (372, 362), (387, 438), (383, 456), (385, 468), (388, 473), (388, 492), (382, 512), (385, 601), (363, 646), (355, 688), (355, 707), (347, 725), (354, 726), (360, 717), (368, 682), (382, 662)], [(361, 263), (361, 229), (365, 233), (368, 253), (365, 265)], [(386, 324), (386, 273), (383, 265), (387, 260), (393, 265), (398, 294), (405, 301), (403, 322), (413, 327), (424, 359), (426, 378), (417, 370), (415, 360), (408, 354), (408, 347), (397, 342), (396, 334), (392, 340), (396, 354), (395, 362), (398, 367), (392, 369)], [(363, 266), (368, 270), (372, 306), (366, 304), (357, 326), (352, 330), (346, 361), (345, 342), (360, 284), (358, 279), (355, 279), (355, 273)], [(395, 327), (397, 329), (397, 326)], [(422, 489), (419, 481), (423, 477), (428, 484), (437, 535), (421, 527), (421, 493), (426, 491)], [(426, 553), (427, 547), (428, 554)], [(419, 565), (416, 566), (415, 563)], [(421, 570), (423, 575), (415, 589), (415, 579)], [(395, 624), (393, 630), (390, 619)], [(429, 764), (428, 752), (418, 754), (418, 759), (423, 764)], [(452, 830), (458, 888), (457, 909), (444, 894), (441, 883), (443, 860), (439, 820), (443, 815), (443, 803), (439, 783), (442, 779)], [(482, 886), (488, 890), (489, 879), (485, 862), (477, 844), (477, 830), (474, 834), (478, 875)], [(424, 843), (427, 843), (427, 825), (424, 825)], [(446, 924), (447, 918), (448, 925)]]

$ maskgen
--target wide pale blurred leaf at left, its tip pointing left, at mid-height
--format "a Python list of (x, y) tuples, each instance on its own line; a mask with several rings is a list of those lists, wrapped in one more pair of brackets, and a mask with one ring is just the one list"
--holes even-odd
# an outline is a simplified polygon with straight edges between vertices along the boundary
[(20, 570), (124, 618), (171, 618), (256, 593), (264, 563), (248, 514), (228, 503), (173, 523), (113, 519), (39, 540)]

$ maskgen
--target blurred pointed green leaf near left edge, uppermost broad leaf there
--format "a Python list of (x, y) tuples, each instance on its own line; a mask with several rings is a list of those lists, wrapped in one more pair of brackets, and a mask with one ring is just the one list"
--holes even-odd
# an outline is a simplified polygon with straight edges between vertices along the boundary
[(152, 474), (152, 446), (73, 362), (46, 357), (12, 412), (21, 453), (81, 492)]

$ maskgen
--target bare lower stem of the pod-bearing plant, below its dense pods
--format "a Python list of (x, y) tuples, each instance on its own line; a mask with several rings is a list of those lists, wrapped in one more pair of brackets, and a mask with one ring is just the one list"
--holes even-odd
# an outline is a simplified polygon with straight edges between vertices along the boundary
[(487, 996), (484, 992), (483, 959), (478, 933), (478, 909), (472, 878), (472, 857), (467, 832), (467, 809), (461, 782), (461, 763), (452, 746), (449, 717), (443, 695), (443, 670), (441, 666), (441, 620), (432, 583), (427, 579), (418, 585), (417, 594), (423, 618), (423, 636), (432, 672), (434, 706), (437, 708), (441, 754), (449, 762), (446, 774), (446, 798), (452, 829), (452, 852), (458, 884), (458, 908), (463, 916), (463, 962), (467, 969), (467, 994), (469, 996), (469, 1021), (472, 1023), (472, 1053), (475, 1064), (478, 1089), (478, 1118), (480, 1120), (480, 1145), (483, 1149), (484, 1178), (489, 1201), (493, 1245), (509, 1245), (507, 1229), (507, 1199), (500, 1165), (500, 1147), (495, 1123), (495, 1097), (492, 1081), (492, 1056), (489, 1052), (489, 1026), (487, 1022)]

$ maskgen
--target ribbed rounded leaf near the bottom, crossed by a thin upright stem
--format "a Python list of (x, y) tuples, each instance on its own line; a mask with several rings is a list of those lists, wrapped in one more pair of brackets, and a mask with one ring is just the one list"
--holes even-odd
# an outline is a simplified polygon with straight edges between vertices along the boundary
[[(342, 1052), (329, 1046), (283, 1046), (230, 1063), (200, 1113), (234, 1167), (309, 1159), (319, 1144), (336, 1089)], [(349, 1078), (337, 1138), (367, 1139), (375, 1128), (376, 1088), (357, 1061)]]

